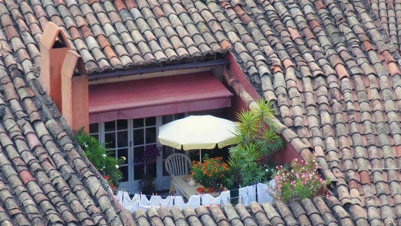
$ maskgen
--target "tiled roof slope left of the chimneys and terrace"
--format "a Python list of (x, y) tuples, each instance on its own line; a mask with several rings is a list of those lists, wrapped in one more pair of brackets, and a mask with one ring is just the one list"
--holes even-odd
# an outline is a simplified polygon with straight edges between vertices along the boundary
[[(15, 40), (18, 55), (23, 47)], [(22, 61), (28, 72), (21, 73), (4, 40), (0, 53), (0, 225), (132, 225), (132, 215), (117, 208), (107, 182), (79, 154), (41, 84), (26, 80), (35, 77), (30, 62)]]

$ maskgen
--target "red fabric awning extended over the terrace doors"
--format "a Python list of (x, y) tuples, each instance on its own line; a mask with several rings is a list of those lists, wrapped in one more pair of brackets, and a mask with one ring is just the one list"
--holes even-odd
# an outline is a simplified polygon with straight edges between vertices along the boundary
[(89, 123), (225, 108), (231, 92), (211, 72), (89, 86)]

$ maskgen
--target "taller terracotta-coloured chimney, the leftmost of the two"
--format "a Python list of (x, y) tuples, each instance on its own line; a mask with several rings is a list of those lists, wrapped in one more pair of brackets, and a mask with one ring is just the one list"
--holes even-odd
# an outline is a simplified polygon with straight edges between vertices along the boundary
[(47, 22), (40, 42), (41, 75), (43, 88), (62, 112), (61, 67), (68, 50), (71, 49), (63, 31), (53, 22)]

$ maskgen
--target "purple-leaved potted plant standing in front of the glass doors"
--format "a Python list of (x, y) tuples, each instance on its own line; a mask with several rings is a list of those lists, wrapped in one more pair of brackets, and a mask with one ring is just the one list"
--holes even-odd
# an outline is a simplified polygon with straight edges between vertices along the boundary
[(140, 158), (135, 158), (134, 165), (135, 166), (144, 166), (145, 173), (142, 175), (142, 179), (139, 181), (139, 186), (142, 189), (142, 192), (145, 194), (152, 194), (156, 189), (155, 180), (156, 177), (149, 173), (149, 164), (156, 163), (157, 157), (160, 156), (160, 152), (162, 149), (157, 147), (156, 145), (148, 145), (145, 147), (144, 154)]

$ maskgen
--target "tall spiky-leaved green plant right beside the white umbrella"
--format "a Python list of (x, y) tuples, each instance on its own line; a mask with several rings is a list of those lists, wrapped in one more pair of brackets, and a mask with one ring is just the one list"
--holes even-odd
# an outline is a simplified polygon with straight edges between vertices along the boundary
[[(269, 121), (275, 114), (272, 102), (257, 100), (258, 109), (237, 113), (235, 128), (235, 147), (229, 149), (230, 165), (238, 185), (250, 185), (257, 181), (265, 182), (269, 178), (266, 168), (257, 163), (263, 156), (274, 156), (281, 150), (283, 142)], [(270, 160), (269, 160), (270, 161)], [(269, 163), (269, 162), (267, 162)]]

